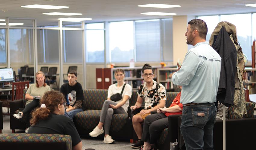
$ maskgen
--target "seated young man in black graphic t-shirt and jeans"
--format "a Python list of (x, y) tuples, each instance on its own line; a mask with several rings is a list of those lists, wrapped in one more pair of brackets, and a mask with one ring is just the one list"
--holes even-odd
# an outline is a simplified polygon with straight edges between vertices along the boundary
[(83, 88), (77, 80), (76, 71), (70, 71), (67, 75), (68, 83), (61, 86), (60, 92), (64, 95), (67, 101), (65, 107), (65, 116), (73, 120), (76, 113), (84, 110), (83, 107)]

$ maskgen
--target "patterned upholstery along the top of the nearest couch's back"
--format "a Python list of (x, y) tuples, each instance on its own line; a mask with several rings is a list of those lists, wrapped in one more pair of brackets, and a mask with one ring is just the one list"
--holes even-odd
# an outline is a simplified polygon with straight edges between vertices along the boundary
[[(62, 134), (2, 134), (0, 143), (66, 143), (67, 150), (72, 149), (72, 140), (70, 135)], [(1, 145), (1, 144), (0, 144)], [(35, 148), (36, 149), (36, 148)]]

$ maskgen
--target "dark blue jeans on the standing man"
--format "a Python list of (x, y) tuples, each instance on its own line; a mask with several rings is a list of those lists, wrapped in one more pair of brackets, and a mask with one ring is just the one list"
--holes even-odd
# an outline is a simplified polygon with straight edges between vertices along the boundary
[(214, 103), (183, 107), (180, 130), (187, 150), (213, 150), (216, 110)]

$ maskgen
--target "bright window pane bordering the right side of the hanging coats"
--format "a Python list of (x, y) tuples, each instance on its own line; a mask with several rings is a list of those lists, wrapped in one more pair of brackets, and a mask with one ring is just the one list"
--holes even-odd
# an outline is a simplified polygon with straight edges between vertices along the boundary
[(251, 14), (220, 15), (220, 21), (227, 21), (236, 26), (238, 42), (248, 61), (251, 61)]

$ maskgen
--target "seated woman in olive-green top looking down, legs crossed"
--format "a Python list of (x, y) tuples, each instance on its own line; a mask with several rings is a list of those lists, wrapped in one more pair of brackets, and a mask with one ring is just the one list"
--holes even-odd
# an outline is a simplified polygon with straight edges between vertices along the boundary
[[(28, 100), (24, 110), (20, 113), (14, 114), (14, 118), (21, 119), (23, 115), (30, 114), (36, 107), (39, 107), (39, 100), (44, 95), (46, 91), (50, 91), (51, 88), (45, 83), (45, 74), (42, 71), (36, 73), (36, 83), (30, 84), (26, 92), (25, 99)], [(31, 101), (31, 102), (30, 102)], [(30, 116), (27, 116), (26, 124), (27, 127), (30, 126), (29, 122)], [(27, 133), (27, 129), (25, 131)]]

